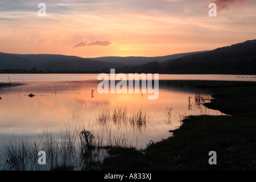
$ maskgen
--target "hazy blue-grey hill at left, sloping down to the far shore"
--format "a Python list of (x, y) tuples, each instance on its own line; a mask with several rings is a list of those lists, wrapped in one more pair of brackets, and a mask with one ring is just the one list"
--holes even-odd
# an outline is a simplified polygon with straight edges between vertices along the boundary
[(35, 72), (86, 72), (102, 69), (119, 68), (125, 64), (96, 61), (76, 56), (64, 55), (20, 55), (0, 52), (0, 70)]

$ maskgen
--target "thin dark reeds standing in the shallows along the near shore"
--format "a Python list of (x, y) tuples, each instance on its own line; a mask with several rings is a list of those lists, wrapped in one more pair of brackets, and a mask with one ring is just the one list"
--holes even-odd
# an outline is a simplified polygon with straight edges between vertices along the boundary
[[(38, 136), (16, 136), (3, 140), (4, 168), (15, 171), (90, 170), (98, 169), (111, 147), (137, 147), (138, 138), (152, 125), (145, 109), (116, 107), (102, 109), (94, 125), (84, 126), (79, 112), (72, 114), (60, 132), (43, 130)], [(146, 145), (145, 145), (146, 147)], [(38, 164), (38, 152), (46, 152), (46, 165)]]

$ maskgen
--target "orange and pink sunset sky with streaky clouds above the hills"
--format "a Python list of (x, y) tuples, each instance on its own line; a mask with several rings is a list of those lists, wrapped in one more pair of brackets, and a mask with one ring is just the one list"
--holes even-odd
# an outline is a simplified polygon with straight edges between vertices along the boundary
[[(39, 16), (39, 3), (46, 16)], [(256, 0), (1, 0), (0, 52), (101, 57), (212, 50), (256, 39), (255, 10)]]

